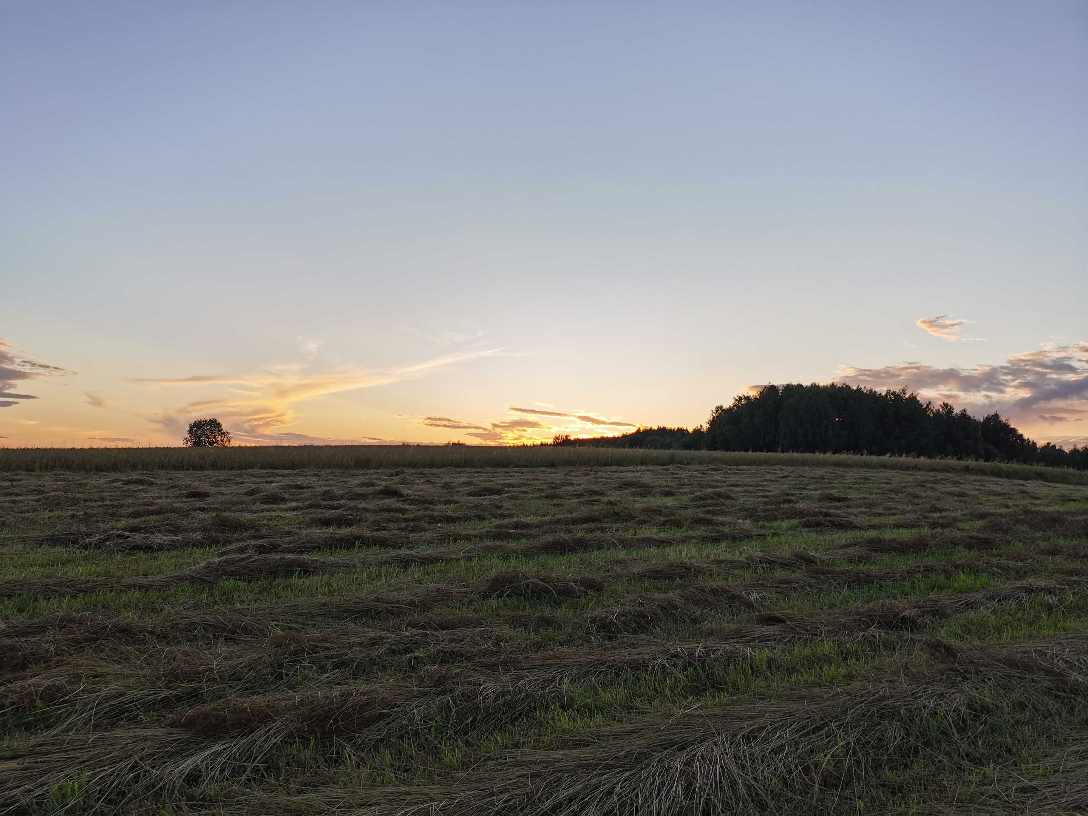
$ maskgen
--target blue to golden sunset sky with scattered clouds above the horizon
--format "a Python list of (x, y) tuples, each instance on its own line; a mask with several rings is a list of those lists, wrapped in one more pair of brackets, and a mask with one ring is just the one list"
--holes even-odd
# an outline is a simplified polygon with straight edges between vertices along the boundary
[(7, 0), (0, 178), (0, 445), (1088, 442), (1083, 0)]

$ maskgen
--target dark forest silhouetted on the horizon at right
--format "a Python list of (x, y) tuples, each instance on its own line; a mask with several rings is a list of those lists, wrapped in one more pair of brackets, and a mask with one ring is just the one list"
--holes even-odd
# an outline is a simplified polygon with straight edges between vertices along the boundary
[(1088, 470), (1088, 446), (1037, 445), (999, 413), (975, 419), (917, 394), (851, 385), (768, 385), (719, 405), (705, 425), (640, 428), (622, 436), (571, 438), (555, 445), (684, 450), (869, 454), (1009, 461)]

